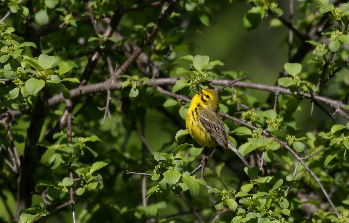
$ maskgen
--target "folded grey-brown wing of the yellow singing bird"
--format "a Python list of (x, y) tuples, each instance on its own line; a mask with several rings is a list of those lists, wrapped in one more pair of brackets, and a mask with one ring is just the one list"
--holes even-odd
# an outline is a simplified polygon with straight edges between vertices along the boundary
[(224, 149), (228, 147), (227, 131), (223, 121), (220, 119), (216, 112), (210, 111), (204, 107), (200, 107), (200, 122), (211, 134), (211, 136), (220, 144)]

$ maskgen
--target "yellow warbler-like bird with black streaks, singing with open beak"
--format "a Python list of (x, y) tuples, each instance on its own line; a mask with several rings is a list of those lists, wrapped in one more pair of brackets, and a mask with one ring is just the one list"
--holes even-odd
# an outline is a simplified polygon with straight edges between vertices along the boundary
[[(199, 86), (200, 87), (200, 86)], [(185, 117), (185, 125), (192, 138), (203, 147), (221, 146), (232, 150), (251, 170), (250, 164), (235, 148), (228, 137), (223, 121), (216, 113), (218, 93), (213, 89), (201, 89), (202, 93), (193, 90), (193, 97)]]

